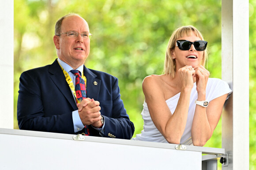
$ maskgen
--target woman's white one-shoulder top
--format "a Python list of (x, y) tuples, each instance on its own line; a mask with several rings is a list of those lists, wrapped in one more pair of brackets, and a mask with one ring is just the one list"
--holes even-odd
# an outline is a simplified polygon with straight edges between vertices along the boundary
[[(224, 94), (230, 94), (231, 92), (232, 90), (230, 89), (229, 85), (225, 81), (217, 78), (208, 79), (207, 87), (206, 87), (207, 101), (210, 102), (215, 98), (218, 98)], [(180, 98), (180, 94), (181, 93), (178, 93), (172, 98), (169, 98), (168, 100), (166, 100), (166, 104), (168, 105), (171, 113), (173, 113), (176, 109), (178, 100)], [(193, 121), (193, 117), (196, 109), (196, 104), (195, 104), (196, 99), (197, 99), (197, 91), (196, 91), (196, 83), (194, 83), (194, 86), (191, 90), (191, 95), (190, 95), (187, 123), (186, 123), (184, 133), (181, 137), (181, 144), (184, 144), (184, 145), (193, 145), (192, 138), (191, 138), (191, 128), (192, 128), (192, 121)], [(144, 120), (143, 130), (141, 131), (141, 134), (137, 134), (135, 138), (132, 138), (132, 140), (168, 143), (166, 139), (163, 137), (163, 135), (154, 126), (154, 123), (151, 119), (151, 116), (147, 107), (147, 103), (145, 101), (143, 104), (143, 110), (141, 112), (141, 115)]]

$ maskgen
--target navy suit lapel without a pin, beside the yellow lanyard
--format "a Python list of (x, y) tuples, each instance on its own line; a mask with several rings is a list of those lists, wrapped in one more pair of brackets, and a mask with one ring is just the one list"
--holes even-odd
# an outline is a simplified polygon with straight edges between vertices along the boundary
[[(53, 83), (56, 84), (56, 87), (61, 91), (61, 93), (67, 98), (70, 105), (72, 105), (74, 110), (77, 110), (77, 106), (73, 97), (73, 94), (68, 86), (68, 83), (65, 79), (64, 73), (61, 70), (61, 67), (57, 60), (53, 62), (49, 69), (50, 78), (53, 80)], [(57, 102), (57, 101), (56, 101)]]

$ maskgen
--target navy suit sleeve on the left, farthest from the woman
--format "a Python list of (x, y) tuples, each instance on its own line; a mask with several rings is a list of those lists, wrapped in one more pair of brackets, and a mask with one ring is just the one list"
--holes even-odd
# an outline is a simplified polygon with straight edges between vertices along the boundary
[[(75, 134), (70, 107), (63, 105), (59, 109), (55, 89), (47, 89), (44, 84), (49, 82), (43, 82), (30, 73), (23, 72), (20, 76), (17, 104), (19, 129)], [(49, 99), (45, 100), (47, 95)]]

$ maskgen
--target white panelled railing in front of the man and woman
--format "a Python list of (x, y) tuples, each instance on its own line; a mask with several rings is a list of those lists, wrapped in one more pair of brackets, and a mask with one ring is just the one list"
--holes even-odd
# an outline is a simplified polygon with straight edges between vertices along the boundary
[(0, 128), (0, 153), (1, 170), (214, 170), (202, 153), (225, 150)]

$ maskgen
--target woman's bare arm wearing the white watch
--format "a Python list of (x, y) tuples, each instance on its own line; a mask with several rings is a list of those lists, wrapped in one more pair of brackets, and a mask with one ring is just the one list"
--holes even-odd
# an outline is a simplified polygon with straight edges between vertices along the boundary
[[(203, 101), (206, 99), (206, 85), (210, 72), (202, 65), (197, 65), (194, 69), (198, 94), (197, 100)], [(218, 124), (226, 97), (227, 94), (215, 98), (209, 102), (207, 108), (196, 105), (191, 129), (193, 145), (203, 146), (210, 139)]]

